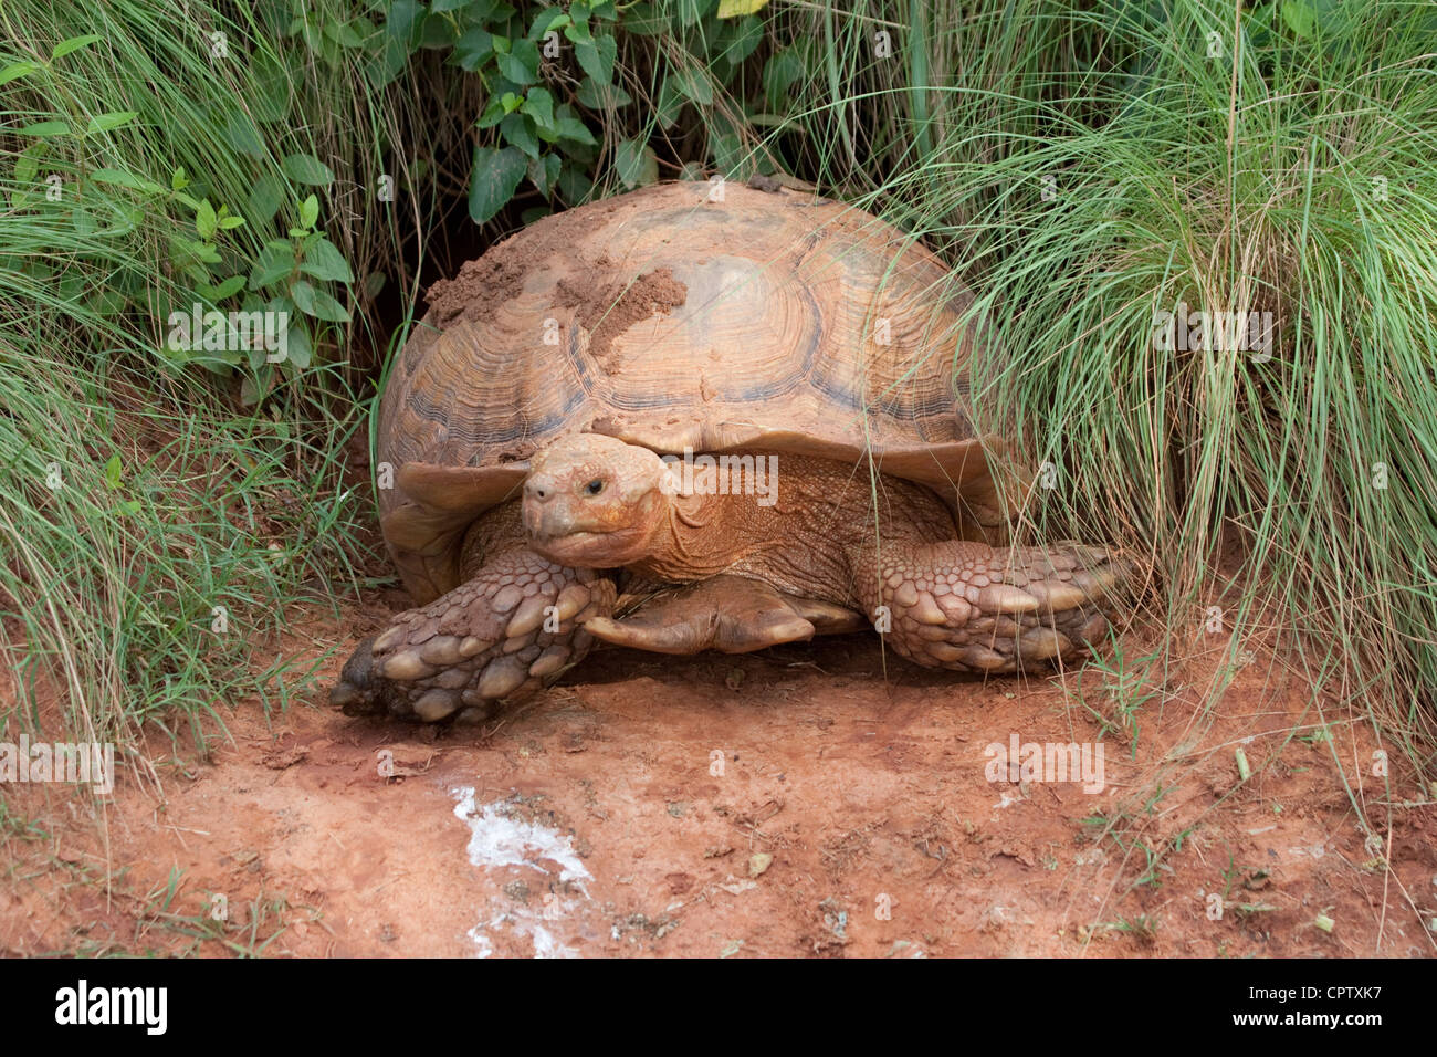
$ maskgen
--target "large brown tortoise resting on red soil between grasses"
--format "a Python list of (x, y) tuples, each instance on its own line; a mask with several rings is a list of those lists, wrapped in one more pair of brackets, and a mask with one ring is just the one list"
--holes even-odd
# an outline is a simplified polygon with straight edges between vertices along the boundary
[(1003, 544), (971, 293), (862, 210), (658, 184), (539, 220), (428, 301), (376, 439), (417, 608), (345, 664), (349, 715), (481, 720), (596, 640), (872, 627), (921, 666), (1013, 672), (1106, 637), (1131, 567)]

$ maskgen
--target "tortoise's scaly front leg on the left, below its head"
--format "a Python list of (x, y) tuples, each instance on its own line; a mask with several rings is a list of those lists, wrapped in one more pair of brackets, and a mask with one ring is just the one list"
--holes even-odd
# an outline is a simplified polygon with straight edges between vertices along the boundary
[(593, 644), (583, 621), (609, 616), (614, 598), (614, 581), (595, 569), (506, 551), (359, 643), (329, 702), (348, 716), (484, 719), (500, 699), (532, 693), (582, 660)]

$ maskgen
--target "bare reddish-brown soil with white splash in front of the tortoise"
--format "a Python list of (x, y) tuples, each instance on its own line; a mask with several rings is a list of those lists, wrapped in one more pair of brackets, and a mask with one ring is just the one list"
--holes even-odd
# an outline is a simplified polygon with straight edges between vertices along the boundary
[[(341, 647), (332, 679), (404, 604), (282, 647)], [(0, 952), (1431, 955), (1431, 795), (1272, 654), (1198, 712), (1224, 647), (1137, 679), (1125, 641), (1125, 710), (1092, 666), (984, 682), (871, 636), (596, 653), (487, 729), (241, 702), (201, 764), (151, 738), (160, 791), (13, 787)], [(1104, 788), (993, 774), (1015, 735), (1101, 742)]]

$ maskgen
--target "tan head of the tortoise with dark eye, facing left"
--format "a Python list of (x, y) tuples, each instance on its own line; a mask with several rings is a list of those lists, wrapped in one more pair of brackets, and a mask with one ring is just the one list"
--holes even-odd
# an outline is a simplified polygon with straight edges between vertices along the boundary
[(647, 447), (596, 433), (555, 441), (530, 460), (523, 518), (530, 546), (549, 561), (618, 568), (651, 551), (673, 488)]

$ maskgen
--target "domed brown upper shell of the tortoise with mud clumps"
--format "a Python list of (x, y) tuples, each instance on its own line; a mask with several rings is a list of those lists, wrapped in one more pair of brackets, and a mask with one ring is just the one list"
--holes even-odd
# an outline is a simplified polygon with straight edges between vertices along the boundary
[(849, 462), (999, 502), (967, 410), (971, 295), (915, 237), (806, 193), (678, 183), (546, 217), (435, 283), (385, 384), (385, 541), (418, 604), (572, 431)]

